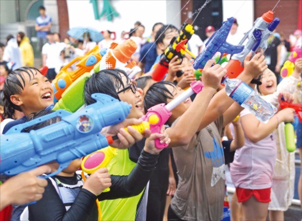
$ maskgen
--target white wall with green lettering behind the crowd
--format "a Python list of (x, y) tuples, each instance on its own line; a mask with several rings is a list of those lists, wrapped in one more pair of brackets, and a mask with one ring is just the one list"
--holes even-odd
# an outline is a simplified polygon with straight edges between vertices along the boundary
[[(102, 2), (98, 1), (99, 13), (103, 8)], [(145, 26), (146, 37), (151, 34), (152, 26), (156, 22), (170, 22), (180, 27), (180, 15), (176, 16), (180, 11), (178, 0), (112, 0), (110, 3), (120, 15), (114, 17), (113, 21), (108, 21), (105, 17), (95, 20), (92, 3), (88, 0), (67, 0), (69, 27), (86, 26), (99, 31), (109, 29), (115, 31), (117, 37), (122, 31), (130, 31), (137, 20)]]

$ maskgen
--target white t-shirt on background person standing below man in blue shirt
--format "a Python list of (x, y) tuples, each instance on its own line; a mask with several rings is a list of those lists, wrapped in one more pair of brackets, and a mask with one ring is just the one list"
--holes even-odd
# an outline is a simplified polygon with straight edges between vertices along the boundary
[(62, 61), (60, 59), (61, 51), (66, 47), (64, 42), (55, 42), (50, 44), (47, 42), (42, 47), (42, 55), (47, 55), (46, 66), (48, 68), (60, 69)]

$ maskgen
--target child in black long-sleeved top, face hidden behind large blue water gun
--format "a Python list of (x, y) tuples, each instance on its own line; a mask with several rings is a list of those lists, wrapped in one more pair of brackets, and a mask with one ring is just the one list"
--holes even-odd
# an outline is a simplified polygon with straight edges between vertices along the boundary
[[(48, 114), (51, 111), (39, 111), (28, 117), (32, 120)], [(43, 128), (57, 119), (34, 125), (27, 129)], [(116, 199), (135, 196), (139, 194), (148, 183), (157, 164), (161, 149), (154, 145), (154, 140), (160, 138), (169, 144), (169, 137), (161, 133), (146, 134), (144, 150), (138, 159), (137, 165), (129, 176), (110, 176), (106, 168), (96, 170), (84, 183), (79, 173), (76, 173), (82, 160), (76, 159), (58, 175), (47, 179), (48, 185), (40, 201), (28, 206), (29, 220), (97, 220), (95, 200)], [(52, 172), (57, 170), (56, 164), (49, 165)], [(102, 191), (110, 187), (109, 192)]]

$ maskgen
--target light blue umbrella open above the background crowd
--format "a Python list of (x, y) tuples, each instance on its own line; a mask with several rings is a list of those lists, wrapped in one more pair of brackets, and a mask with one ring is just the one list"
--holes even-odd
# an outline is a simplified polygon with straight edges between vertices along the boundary
[(91, 40), (95, 41), (95, 42), (98, 42), (98, 41), (101, 41), (104, 39), (103, 35), (99, 31), (97, 31), (93, 28), (75, 27), (75, 28), (69, 29), (67, 31), (67, 34), (70, 37), (74, 37), (79, 40), (83, 40), (83, 36), (88, 35), (88, 34), (89, 34)]

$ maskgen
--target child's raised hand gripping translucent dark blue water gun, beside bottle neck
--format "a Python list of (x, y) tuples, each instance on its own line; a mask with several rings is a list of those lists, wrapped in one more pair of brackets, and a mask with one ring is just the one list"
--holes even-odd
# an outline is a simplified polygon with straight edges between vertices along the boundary
[(227, 70), (219, 64), (215, 64), (211, 67), (214, 63), (215, 60), (208, 60), (202, 72), (201, 79), (205, 87), (210, 87), (216, 90), (221, 83), (222, 77), (227, 74)]

